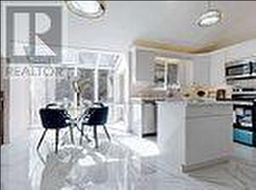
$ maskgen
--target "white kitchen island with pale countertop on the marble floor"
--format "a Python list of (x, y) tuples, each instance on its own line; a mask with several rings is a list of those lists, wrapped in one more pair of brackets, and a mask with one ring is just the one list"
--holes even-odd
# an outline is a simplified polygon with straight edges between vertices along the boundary
[(157, 101), (157, 142), (183, 172), (227, 161), (232, 151), (230, 102)]

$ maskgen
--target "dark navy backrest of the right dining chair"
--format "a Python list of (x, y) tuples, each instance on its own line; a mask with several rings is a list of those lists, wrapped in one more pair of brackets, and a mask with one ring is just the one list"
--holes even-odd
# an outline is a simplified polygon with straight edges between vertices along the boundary
[(88, 125), (104, 125), (108, 121), (109, 107), (90, 107), (88, 114), (90, 115)]

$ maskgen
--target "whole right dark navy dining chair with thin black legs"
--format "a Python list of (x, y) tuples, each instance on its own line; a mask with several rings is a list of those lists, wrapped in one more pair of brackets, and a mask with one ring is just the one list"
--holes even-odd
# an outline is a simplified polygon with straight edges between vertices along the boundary
[(104, 106), (102, 103), (94, 103), (93, 107), (89, 107), (85, 111), (85, 113), (82, 115), (82, 121), (81, 121), (80, 144), (82, 143), (82, 137), (84, 135), (84, 126), (93, 127), (95, 148), (98, 148), (97, 126), (103, 126), (106, 137), (109, 139), (109, 141), (111, 141), (110, 134), (105, 126), (108, 120), (108, 114), (109, 114), (109, 107)]

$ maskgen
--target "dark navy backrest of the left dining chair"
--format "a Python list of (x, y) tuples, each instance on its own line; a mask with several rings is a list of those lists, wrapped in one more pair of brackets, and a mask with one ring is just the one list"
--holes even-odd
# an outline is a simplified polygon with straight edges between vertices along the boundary
[(67, 127), (66, 110), (41, 108), (39, 111), (42, 126), (47, 129)]

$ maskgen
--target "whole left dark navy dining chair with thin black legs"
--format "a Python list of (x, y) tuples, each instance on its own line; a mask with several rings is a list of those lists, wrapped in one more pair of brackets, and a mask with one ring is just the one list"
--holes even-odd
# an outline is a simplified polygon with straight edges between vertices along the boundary
[(49, 105), (47, 105), (46, 108), (40, 109), (39, 115), (41, 118), (42, 127), (45, 128), (45, 131), (42, 133), (42, 136), (39, 140), (39, 143), (37, 145), (37, 150), (40, 148), (41, 143), (45, 138), (46, 132), (49, 129), (56, 130), (55, 153), (58, 152), (59, 130), (62, 128), (66, 128), (66, 127), (70, 128), (71, 141), (74, 144), (73, 128), (72, 128), (73, 127), (72, 124), (74, 124), (74, 122), (65, 109), (49, 108)]

